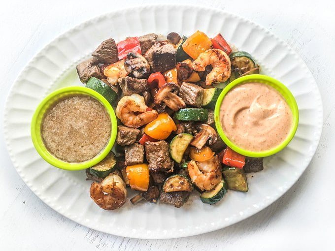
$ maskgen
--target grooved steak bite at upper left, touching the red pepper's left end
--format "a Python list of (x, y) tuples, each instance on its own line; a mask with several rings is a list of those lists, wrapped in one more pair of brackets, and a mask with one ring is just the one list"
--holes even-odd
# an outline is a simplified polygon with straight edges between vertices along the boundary
[(113, 38), (104, 40), (99, 47), (92, 53), (99, 63), (115, 63), (119, 61), (119, 53)]

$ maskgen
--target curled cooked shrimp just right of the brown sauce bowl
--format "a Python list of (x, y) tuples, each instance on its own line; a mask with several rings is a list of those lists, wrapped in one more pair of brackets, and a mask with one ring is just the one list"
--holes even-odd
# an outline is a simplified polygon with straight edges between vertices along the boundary
[(156, 110), (146, 111), (144, 97), (138, 94), (124, 96), (116, 107), (116, 116), (121, 122), (131, 128), (138, 128), (146, 125), (157, 118)]

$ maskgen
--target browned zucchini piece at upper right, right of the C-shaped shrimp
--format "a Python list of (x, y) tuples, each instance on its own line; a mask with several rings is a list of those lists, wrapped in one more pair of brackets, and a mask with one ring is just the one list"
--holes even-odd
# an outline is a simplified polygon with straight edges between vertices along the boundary
[[(245, 72), (256, 68), (254, 58), (245, 51), (234, 52), (229, 57), (231, 59), (232, 73), (235, 73), (235, 77), (238, 77)], [(234, 74), (232, 75), (234, 77)], [(233, 80), (234, 79), (230, 79), (230, 82), (232, 82)]]

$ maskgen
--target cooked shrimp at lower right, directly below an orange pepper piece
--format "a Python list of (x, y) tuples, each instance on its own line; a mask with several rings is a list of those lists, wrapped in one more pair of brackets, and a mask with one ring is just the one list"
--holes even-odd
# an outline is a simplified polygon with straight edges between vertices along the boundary
[(201, 190), (214, 188), (222, 179), (220, 161), (217, 156), (202, 162), (191, 160), (187, 169), (192, 182)]

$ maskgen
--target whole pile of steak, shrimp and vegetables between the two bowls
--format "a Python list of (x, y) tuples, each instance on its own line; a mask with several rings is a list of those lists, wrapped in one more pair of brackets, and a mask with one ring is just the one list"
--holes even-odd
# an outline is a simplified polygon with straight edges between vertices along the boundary
[(144, 200), (181, 207), (191, 192), (215, 204), (227, 189), (246, 192), (246, 173), (263, 170), (263, 158), (226, 147), (214, 125), (216, 100), (228, 83), (259, 66), (247, 52), (232, 52), (221, 34), (209, 38), (171, 32), (110, 38), (77, 65), (82, 83), (102, 94), (119, 119), (117, 142), (86, 170), (91, 198), (120, 208), (127, 188)]

